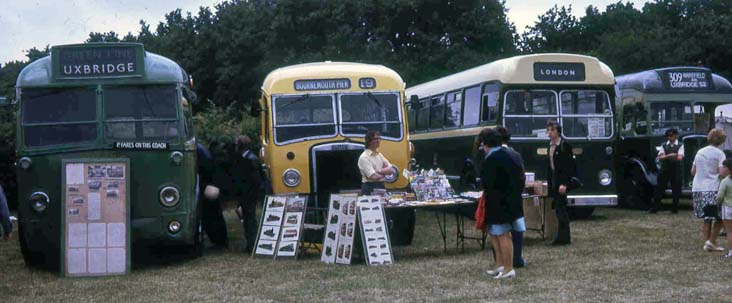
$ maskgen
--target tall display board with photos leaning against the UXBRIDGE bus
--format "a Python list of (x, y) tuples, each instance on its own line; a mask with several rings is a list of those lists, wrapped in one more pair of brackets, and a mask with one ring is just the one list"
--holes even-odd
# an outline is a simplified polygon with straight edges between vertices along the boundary
[(130, 269), (129, 162), (63, 162), (61, 272), (66, 276), (127, 274)]

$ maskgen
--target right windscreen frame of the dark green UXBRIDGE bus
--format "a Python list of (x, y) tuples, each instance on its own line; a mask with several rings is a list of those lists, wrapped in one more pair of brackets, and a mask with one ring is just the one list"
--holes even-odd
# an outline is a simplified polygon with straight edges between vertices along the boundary
[[(175, 108), (175, 119), (173, 119), (173, 118), (154, 118), (154, 119), (142, 119), (142, 118), (141, 119), (136, 119), (136, 118), (133, 118), (133, 119), (107, 120), (107, 117), (106, 117), (106, 110), (107, 110), (106, 91), (107, 91), (107, 89), (108, 88), (140, 88), (140, 87), (172, 87), (172, 88), (174, 88), (176, 90), (176, 93), (177, 93), (176, 96), (178, 98), (178, 100), (175, 100), (175, 102), (173, 102), (173, 104), (176, 104), (175, 105), (175, 107), (176, 107)], [(100, 105), (101, 106), (101, 113), (100, 113), (101, 116), (98, 118), (98, 120), (99, 120), (98, 122), (99, 122), (100, 128), (101, 128), (99, 131), (101, 131), (100, 140), (102, 140), (102, 142), (105, 142), (105, 143), (113, 143), (113, 142), (118, 142), (118, 141), (130, 141), (130, 140), (132, 140), (132, 141), (135, 141), (135, 142), (160, 142), (160, 141), (162, 141), (162, 142), (169, 142), (169, 143), (178, 143), (181, 140), (181, 138), (185, 138), (186, 137), (183, 134), (181, 134), (180, 131), (175, 136), (175, 138), (170, 137), (168, 139), (159, 139), (159, 138), (152, 138), (152, 139), (150, 139), (150, 138), (108, 138), (107, 137), (107, 127), (106, 127), (106, 124), (108, 122), (109, 123), (125, 123), (125, 122), (136, 122), (136, 123), (137, 122), (139, 122), (139, 123), (144, 123), (144, 122), (175, 122), (175, 124), (177, 125), (177, 128), (180, 130), (181, 129), (181, 123), (185, 124), (185, 121), (182, 121), (182, 119), (185, 119), (185, 118), (183, 117), (184, 116), (184, 113), (182, 113), (182, 111), (184, 109), (183, 109), (183, 105), (181, 104), (181, 102), (183, 101), (183, 99), (182, 99), (183, 98), (182, 86), (179, 83), (177, 83), (177, 84), (172, 84), (172, 83), (161, 83), (161, 84), (149, 83), (149, 84), (142, 84), (142, 85), (128, 85), (128, 84), (100, 85), (99, 86), (98, 95), (99, 95), (99, 99), (100, 99), (99, 102), (101, 103), (101, 105)], [(189, 107), (192, 107), (192, 106), (193, 106), (192, 104), (189, 104)], [(191, 112), (191, 118), (193, 117), (192, 114), (193, 114), (193, 112)], [(191, 121), (191, 123), (192, 122), (193, 121)], [(185, 132), (185, 125), (183, 126), (183, 131)], [(193, 134), (191, 134), (191, 136), (193, 136)]]

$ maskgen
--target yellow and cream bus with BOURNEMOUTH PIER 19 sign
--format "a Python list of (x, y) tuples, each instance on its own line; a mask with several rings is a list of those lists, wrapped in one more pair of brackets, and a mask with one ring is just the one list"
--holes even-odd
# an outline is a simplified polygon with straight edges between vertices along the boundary
[[(260, 157), (273, 192), (323, 202), (329, 193), (359, 189), (358, 157), (369, 130), (381, 132), (380, 151), (397, 171), (406, 168), (404, 88), (399, 74), (382, 65), (326, 61), (272, 71), (258, 106)], [(387, 189), (407, 184), (399, 173), (386, 180)]]

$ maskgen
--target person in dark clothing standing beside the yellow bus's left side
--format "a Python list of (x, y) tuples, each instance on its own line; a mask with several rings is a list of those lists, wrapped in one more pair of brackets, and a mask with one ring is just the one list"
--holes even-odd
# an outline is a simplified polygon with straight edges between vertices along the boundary
[(252, 140), (241, 135), (234, 140), (234, 157), (232, 159), (232, 175), (234, 177), (234, 196), (239, 199), (244, 228), (245, 253), (251, 253), (257, 241), (257, 203), (264, 191), (261, 164), (251, 151)]

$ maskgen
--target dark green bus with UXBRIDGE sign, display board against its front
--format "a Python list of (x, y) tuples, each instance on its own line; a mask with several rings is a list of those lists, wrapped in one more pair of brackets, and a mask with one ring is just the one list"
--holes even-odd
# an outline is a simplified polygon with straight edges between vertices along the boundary
[(83, 159), (129, 163), (132, 247), (182, 245), (199, 253), (194, 99), (186, 72), (138, 43), (54, 46), (24, 68), (15, 102), (26, 264), (59, 268), (62, 163)]

